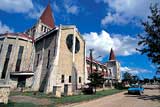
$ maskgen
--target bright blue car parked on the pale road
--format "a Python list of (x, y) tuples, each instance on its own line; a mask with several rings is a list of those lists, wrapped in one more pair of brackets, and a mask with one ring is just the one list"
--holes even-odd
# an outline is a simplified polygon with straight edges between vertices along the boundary
[(131, 87), (128, 88), (128, 94), (142, 95), (143, 92), (144, 88), (140, 84), (132, 84)]

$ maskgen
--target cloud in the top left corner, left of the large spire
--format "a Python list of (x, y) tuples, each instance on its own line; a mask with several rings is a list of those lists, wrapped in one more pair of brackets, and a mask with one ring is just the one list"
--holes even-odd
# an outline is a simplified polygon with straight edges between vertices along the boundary
[(43, 7), (40, 4), (33, 4), (32, 0), (1, 0), (0, 10), (8, 13), (23, 13), (29, 18), (39, 18)]

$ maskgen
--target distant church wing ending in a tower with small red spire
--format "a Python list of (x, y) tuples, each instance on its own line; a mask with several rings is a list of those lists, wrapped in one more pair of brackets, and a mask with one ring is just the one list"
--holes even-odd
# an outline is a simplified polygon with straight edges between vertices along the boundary
[[(91, 59), (86, 58), (88, 75), (91, 73)], [(104, 75), (107, 83), (120, 82), (120, 63), (116, 60), (113, 49), (110, 51), (109, 60), (102, 64), (92, 60), (92, 72), (100, 72)]]

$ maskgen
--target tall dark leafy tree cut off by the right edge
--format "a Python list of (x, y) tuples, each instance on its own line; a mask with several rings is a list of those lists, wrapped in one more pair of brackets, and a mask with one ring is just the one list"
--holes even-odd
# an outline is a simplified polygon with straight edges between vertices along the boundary
[(138, 45), (142, 46), (137, 49), (141, 54), (146, 54), (152, 63), (160, 69), (160, 8), (158, 4), (150, 7), (151, 16), (148, 21), (142, 22), (145, 30), (144, 35), (138, 35)]

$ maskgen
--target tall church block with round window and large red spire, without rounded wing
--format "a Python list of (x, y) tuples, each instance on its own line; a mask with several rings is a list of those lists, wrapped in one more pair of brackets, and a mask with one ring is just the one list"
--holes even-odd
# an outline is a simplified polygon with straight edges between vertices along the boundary
[(32, 90), (61, 96), (80, 89), (86, 76), (85, 41), (76, 26), (55, 27), (48, 4), (30, 35), (35, 39)]

